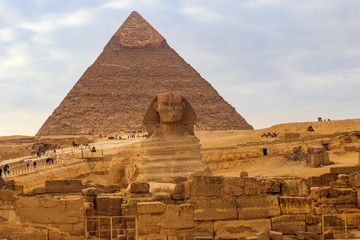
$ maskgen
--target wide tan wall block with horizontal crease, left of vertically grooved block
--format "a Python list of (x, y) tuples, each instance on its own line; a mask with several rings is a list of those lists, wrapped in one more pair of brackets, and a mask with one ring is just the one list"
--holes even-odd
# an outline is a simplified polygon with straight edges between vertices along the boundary
[(268, 218), (280, 215), (277, 196), (241, 196), (236, 199), (239, 219)]

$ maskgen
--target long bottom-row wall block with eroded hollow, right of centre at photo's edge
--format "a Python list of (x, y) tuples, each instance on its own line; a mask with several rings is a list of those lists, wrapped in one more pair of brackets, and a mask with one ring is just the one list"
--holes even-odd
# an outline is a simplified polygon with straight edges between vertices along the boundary
[(258, 232), (270, 232), (270, 219), (233, 220), (214, 222), (215, 238), (252, 237)]

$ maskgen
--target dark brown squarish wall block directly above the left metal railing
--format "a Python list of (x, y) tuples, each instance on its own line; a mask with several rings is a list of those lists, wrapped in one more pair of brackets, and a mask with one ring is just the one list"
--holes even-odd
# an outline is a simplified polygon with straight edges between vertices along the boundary
[(122, 196), (98, 195), (96, 197), (97, 214), (100, 216), (120, 216)]

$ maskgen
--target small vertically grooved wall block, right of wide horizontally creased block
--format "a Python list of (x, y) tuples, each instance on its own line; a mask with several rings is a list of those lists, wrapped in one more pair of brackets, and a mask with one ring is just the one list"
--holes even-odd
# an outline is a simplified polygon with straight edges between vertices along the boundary
[(282, 214), (310, 213), (311, 200), (306, 197), (280, 197)]

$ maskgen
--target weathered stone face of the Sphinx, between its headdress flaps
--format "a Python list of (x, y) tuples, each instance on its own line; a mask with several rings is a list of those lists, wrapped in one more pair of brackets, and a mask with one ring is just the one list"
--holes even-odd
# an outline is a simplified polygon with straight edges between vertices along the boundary
[(181, 122), (184, 105), (180, 96), (173, 94), (158, 95), (157, 112), (161, 123)]

